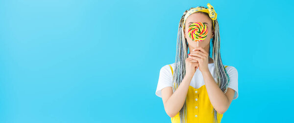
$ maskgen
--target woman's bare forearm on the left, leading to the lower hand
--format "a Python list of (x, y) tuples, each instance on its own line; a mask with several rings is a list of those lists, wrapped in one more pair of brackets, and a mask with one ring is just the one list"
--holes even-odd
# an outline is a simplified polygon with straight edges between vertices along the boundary
[(166, 102), (170, 117), (174, 117), (183, 107), (193, 75), (186, 75), (178, 88)]

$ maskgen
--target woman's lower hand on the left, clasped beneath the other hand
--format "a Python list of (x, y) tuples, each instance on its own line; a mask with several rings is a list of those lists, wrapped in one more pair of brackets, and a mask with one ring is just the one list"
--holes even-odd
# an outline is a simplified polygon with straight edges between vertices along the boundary
[(196, 69), (199, 67), (198, 61), (191, 59), (188, 57), (185, 61), (185, 66), (186, 66), (186, 75), (189, 76), (194, 76)]

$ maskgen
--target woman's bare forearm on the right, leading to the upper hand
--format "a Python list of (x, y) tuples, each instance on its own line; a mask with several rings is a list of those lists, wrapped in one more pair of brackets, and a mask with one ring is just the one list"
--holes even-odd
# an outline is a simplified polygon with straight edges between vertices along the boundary
[(202, 75), (211, 104), (219, 113), (224, 113), (228, 109), (228, 98), (217, 85), (210, 71), (203, 72)]

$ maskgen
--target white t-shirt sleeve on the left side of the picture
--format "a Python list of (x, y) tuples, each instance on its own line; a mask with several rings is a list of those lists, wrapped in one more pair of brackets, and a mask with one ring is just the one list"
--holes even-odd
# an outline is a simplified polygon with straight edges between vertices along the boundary
[(165, 87), (172, 87), (172, 70), (170, 65), (165, 65), (160, 69), (159, 79), (156, 88), (156, 96), (161, 97), (161, 90)]

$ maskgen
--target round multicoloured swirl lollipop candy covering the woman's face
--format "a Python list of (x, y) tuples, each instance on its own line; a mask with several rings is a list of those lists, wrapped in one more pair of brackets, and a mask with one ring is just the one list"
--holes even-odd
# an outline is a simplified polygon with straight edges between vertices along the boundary
[(207, 26), (202, 22), (194, 22), (189, 26), (188, 35), (193, 41), (203, 41), (207, 34)]

